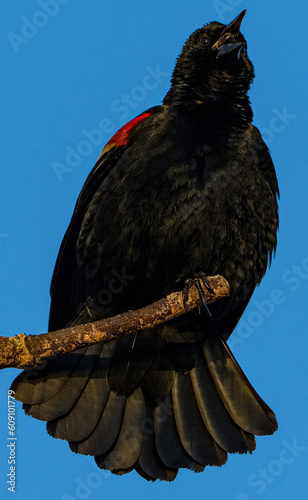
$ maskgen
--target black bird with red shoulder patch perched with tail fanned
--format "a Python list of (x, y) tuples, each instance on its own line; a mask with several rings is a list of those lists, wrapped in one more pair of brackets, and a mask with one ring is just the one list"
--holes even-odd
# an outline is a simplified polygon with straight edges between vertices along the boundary
[(60, 248), (50, 330), (151, 304), (203, 273), (224, 275), (231, 296), (211, 314), (58, 356), (12, 386), (49, 434), (116, 474), (172, 481), (277, 429), (226, 345), (278, 226), (274, 166), (251, 124), (245, 12), (195, 31), (163, 104), (103, 149)]

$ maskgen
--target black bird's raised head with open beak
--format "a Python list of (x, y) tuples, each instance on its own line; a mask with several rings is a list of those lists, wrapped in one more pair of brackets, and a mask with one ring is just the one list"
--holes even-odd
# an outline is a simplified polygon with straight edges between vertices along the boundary
[(254, 78), (247, 43), (240, 32), (243, 10), (230, 24), (212, 22), (186, 41), (165, 103), (228, 102), (246, 96)]

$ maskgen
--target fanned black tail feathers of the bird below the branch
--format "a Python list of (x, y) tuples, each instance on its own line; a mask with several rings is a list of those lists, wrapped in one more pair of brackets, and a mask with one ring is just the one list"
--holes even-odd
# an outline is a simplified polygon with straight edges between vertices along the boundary
[(152, 358), (149, 344), (141, 357), (141, 339), (96, 344), (36, 374), (23, 372), (12, 385), (15, 397), (74, 452), (95, 456), (115, 474), (136, 469), (151, 481), (173, 481), (179, 468), (221, 466), (228, 453), (252, 453), (254, 435), (275, 432), (274, 413), (218, 334), (189, 343), (186, 372), (182, 362), (181, 371), (174, 369), (169, 339), (167, 348), (152, 344)]

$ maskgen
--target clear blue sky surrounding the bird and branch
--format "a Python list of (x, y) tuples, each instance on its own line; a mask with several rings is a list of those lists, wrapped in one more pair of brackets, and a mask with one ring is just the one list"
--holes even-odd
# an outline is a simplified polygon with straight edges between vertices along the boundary
[[(0, 307), (3, 335), (47, 329), (49, 284), (81, 186), (112, 133), (159, 104), (176, 56), (204, 23), (248, 12), (256, 80), (254, 123), (277, 169), (277, 257), (231, 338), (247, 376), (275, 410), (278, 432), (222, 468), (181, 471), (171, 484), (135, 472), (99, 474), (91, 457), (50, 438), (17, 405), (16, 500), (307, 498), (307, 15), (298, 0), (14, 0), (1, 12)], [(89, 133), (101, 127), (100, 135)], [(6, 474), (7, 391), (1, 372), (0, 495)]]

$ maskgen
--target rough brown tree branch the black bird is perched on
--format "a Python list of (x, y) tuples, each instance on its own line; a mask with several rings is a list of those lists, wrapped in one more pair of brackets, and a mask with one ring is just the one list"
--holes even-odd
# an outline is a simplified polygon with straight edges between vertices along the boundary
[[(207, 279), (214, 293), (209, 292), (202, 283), (201, 286), (209, 304), (230, 294), (229, 284), (222, 276)], [(189, 290), (187, 309), (183, 305), (182, 292), (174, 292), (149, 306), (94, 323), (40, 335), (20, 333), (14, 337), (0, 336), (0, 369), (32, 368), (55, 354), (66, 354), (96, 342), (159, 325), (201, 304), (199, 293), (193, 286)]]

